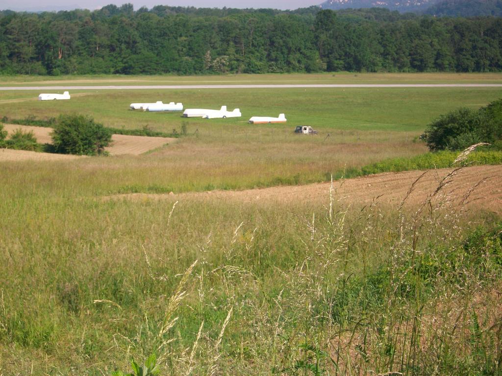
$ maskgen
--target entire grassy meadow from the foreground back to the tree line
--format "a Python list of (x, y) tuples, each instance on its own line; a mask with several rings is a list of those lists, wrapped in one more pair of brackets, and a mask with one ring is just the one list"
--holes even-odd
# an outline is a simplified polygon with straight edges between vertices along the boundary
[[(117, 128), (186, 126), (188, 135), (140, 156), (0, 161), (0, 375), (109, 375), (154, 352), (162, 375), (502, 374), (495, 214), (467, 212), (441, 194), (419, 207), (347, 206), (336, 189), (310, 204), (110, 198), (326, 181), (344, 168), (419, 155), (428, 122), (485, 105), (499, 88), (70, 94), (44, 103), (35, 91), (0, 90), (0, 118), (77, 112)], [(243, 117), (128, 109), (151, 100), (226, 104)], [(286, 125), (246, 123), (279, 112)], [(302, 124), (319, 135), (294, 135)]]

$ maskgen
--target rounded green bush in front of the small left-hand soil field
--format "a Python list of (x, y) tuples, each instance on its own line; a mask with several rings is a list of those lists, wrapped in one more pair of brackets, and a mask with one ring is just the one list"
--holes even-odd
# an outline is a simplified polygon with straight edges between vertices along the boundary
[(111, 142), (112, 132), (84, 115), (60, 115), (52, 132), (56, 152), (98, 155)]

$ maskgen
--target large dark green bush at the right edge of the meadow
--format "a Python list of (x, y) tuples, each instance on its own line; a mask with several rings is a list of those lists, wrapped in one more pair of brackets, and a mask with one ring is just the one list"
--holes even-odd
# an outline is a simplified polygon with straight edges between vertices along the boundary
[(479, 110), (460, 108), (428, 125), (424, 137), (432, 151), (462, 150), (478, 142), (502, 139), (502, 99)]

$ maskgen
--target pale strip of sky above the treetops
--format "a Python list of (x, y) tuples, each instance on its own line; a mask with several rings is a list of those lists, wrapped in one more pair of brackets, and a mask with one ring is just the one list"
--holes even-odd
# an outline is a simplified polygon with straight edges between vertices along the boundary
[(71, 9), (99, 9), (108, 4), (132, 3), (135, 9), (155, 5), (197, 8), (274, 8), (297, 9), (319, 5), (324, 0), (0, 0), (0, 10), (13, 11), (53, 11)]

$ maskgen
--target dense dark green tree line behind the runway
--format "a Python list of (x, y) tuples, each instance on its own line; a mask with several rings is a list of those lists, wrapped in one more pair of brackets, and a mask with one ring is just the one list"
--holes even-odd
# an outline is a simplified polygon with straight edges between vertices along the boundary
[(3, 74), (502, 70), (502, 19), (196, 9), (0, 12)]

